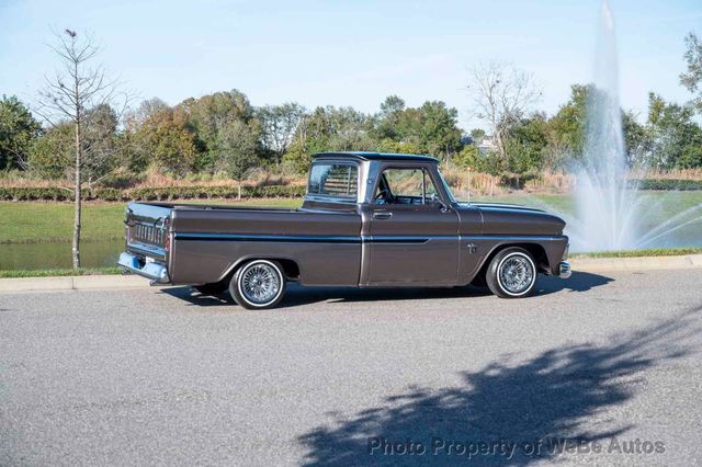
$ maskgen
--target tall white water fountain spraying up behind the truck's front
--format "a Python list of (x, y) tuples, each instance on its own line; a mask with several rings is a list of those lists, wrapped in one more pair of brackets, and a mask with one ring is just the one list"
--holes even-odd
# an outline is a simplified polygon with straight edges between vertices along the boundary
[[(679, 246), (669, 238), (700, 223), (698, 204), (650, 225), (660, 201), (652, 202), (627, 180), (619, 102), (619, 60), (614, 20), (602, 2), (597, 39), (595, 77), (588, 93), (585, 150), (577, 163), (576, 216), (566, 217), (573, 251), (613, 251)], [(666, 217), (665, 215), (661, 217)], [(700, 235), (702, 241), (702, 235)]]

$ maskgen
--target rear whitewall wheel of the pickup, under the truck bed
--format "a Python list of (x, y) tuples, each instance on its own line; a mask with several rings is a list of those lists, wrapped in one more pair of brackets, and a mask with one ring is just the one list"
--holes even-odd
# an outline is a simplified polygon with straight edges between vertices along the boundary
[(234, 274), (229, 293), (246, 309), (273, 308), (285, 294), (285, 275), (275, 261), (252, 260)]

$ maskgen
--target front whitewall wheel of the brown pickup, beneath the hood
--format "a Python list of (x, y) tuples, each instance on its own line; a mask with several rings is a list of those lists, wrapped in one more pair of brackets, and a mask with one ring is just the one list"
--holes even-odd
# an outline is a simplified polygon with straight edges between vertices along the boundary
[(490, 291), (500, 298), (521, 298), (534, 293), (536, 265), (523, 248), (506, 248), (495, 255), (485, 278)]

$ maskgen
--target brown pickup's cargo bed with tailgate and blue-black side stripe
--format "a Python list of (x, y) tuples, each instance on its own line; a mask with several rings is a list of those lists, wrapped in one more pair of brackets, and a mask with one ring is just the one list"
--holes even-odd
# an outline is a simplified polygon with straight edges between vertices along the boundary
[[(262, 254), (295, 259), (309, 272), (309, 283), (358, 283), (361, 216), (355, 210), (129, 203), (126, 224), (127, 252), (162, 263), (173, 284), (218, 282), (239, 261)], [(320, 246), (330, 243), (335, 248), (322, 254)]]

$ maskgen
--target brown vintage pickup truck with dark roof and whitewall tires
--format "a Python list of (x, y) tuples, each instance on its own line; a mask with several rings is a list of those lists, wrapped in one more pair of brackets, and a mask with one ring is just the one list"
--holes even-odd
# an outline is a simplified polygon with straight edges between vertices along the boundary
[(298, 209), (129, 203), (118, 264), (152, 284), (229, 289), (272, 308), (287, 281), (315, 286), (487, 285), (533, 293), (539, 273), (568, 277), (565, 223), (543, 210), (461, 203), (437, 159), (315, 155)]

